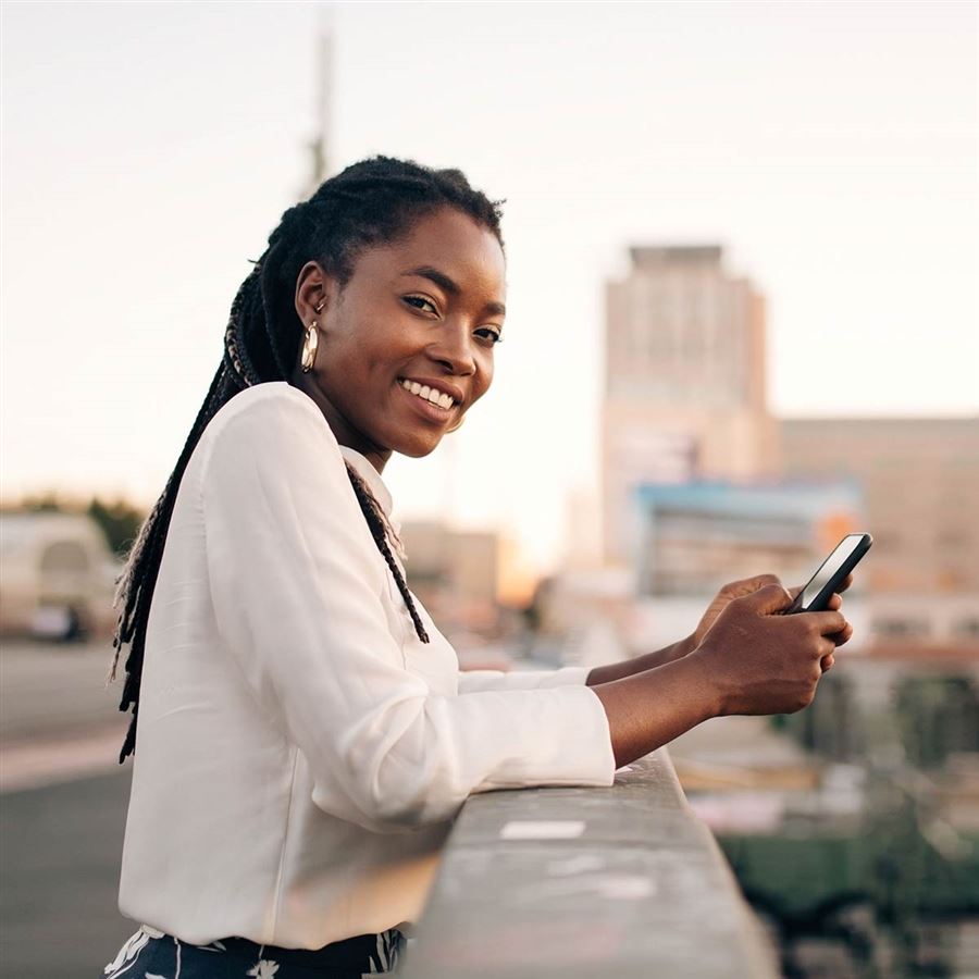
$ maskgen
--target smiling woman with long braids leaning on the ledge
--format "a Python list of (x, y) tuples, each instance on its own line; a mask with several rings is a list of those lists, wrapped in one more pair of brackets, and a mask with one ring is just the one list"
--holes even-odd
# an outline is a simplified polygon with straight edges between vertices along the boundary
[(382, 473), (486, 393), (504, 303), (499, 209), (458, 171), (365, 160), (272, 233), (121, 583), (141, 925), (106, 975), (388, 971), (468, 795), (609, 785), (706, 717), (798, 709), (848, 639), (771, 615), (766, 577), (646, 657), (460, 673)]

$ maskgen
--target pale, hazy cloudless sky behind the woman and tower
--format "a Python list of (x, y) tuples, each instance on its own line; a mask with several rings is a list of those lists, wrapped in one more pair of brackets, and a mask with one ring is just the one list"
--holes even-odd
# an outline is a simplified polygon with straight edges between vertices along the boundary
[[(507, 198), (496, 380), (401, 519), (546, 569), (596, 483), (603, 284), (719, 241), (769, 301), (779, 414), (979, 411), (975, 3), (340, 3), (333, 156)], [(247, 259), (303, 187), (317, 5), (2, 7), (4, 496), (151, 501)]]

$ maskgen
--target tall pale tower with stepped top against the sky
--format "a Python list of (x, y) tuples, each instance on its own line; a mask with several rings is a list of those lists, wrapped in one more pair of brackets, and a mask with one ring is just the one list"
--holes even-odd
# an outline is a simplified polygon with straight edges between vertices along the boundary
[(765, 301), (719, 245), (630, 249), (606, 290), (602, 425), (606, 562), (630, 563), (634, 488), (777, 471), (765, 385)]

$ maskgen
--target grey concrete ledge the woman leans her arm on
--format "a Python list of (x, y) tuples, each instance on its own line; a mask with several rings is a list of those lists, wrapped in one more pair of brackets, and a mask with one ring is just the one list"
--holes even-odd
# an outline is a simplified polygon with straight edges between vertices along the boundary
[(463, 806), (405, 979), (776, 979), (774, 955), (665, 749), (610, 789)]

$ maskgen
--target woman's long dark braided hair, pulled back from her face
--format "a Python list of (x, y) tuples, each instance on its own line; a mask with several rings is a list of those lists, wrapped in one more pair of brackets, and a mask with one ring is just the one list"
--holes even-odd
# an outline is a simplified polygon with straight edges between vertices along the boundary
[[(115, 653), (110, 680), (115, 678), (122, 647), (128, 645), (126, 679), (119, 709), (133, 710), (120, 764), (136, 749), (147, 622), (184, 470), (205, 427), (223, 405), (247, 387), (289, 380), (302, 335), (302, 323), (294, 305), (299, 271), (308, 261), (315, 260), (343, 289), (364, 249), (396, 241), (410, 233), (416, 221), (445, 207), (461, 211), (493, 232), (503, 247), (501, 203), (473, 189), (459, 170), (432, 170), (412, 161), (373, 157), (331, 177), (309, 200), (289, 208), (282, 215), (278, 226), (269, 236), (269, 247), (235, 295), (224, 332), (221, 363), (176, 466), (140, 528), (119, 580), (115, 604), (121, 612), (112, 641)], [(349, 463), (347, 475), (374, 543), (408, 606), (416, 632), (423, 643), (427, 643), (418, 609), (391, 553), (389, 540), (397, 547), (400, 542), (367, 483)]]

